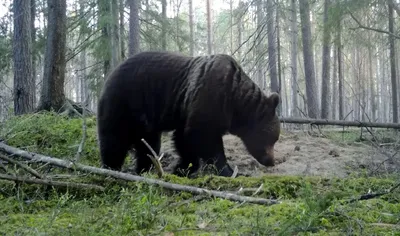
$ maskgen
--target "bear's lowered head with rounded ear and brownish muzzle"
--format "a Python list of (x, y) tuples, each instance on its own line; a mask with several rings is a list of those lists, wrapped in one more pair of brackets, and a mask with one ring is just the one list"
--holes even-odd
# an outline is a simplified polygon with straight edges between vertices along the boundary
[(274, 146), (280, 135), (280, 121), (276, 108), (280, 97), (272, 93), (266, 99), (265, 109), (261, 119), (250, 125), (242, 136), (244, 145), (249, 153), (262, 165), (274, 166)]

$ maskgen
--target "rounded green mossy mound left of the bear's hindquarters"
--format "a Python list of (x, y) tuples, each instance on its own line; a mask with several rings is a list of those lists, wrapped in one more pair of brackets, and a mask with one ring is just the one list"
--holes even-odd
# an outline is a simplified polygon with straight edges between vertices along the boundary
[[(82, 140), (82, 120), (53, 112), (23, 115), (8, 120), (0, 129), (7, 144), (57, 158), (74, 158)], [(82, 163), (98, 165), (96, 122), (87, 118), (87, 138)]]

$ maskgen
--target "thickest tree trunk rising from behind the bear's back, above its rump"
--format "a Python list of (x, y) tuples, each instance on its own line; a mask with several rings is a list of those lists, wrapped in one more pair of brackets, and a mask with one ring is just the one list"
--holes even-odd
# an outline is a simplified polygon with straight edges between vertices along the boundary
[(140, 0), (129, 0), (129, 56), (139, 52), (140, 25), (139, 25)]

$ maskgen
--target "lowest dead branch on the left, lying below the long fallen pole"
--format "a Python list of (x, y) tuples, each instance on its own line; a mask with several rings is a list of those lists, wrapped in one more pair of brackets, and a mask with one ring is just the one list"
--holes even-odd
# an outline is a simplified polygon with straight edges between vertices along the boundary
[(98, 191), (104, 191), (104, 187), (93, 185), (93, 184), (82, 184), (82, 183), (71, 183), (71, 182), (61, 182), (61, 181), (52, 181), (52, 180), (43, 180), (43, 179), (28, 179), (22, 178), (18, 176), (12, 175), (4, 175), (0, 174), (0, 179), (19, 182), (19, 183), (27, 183), (27, 184), (42, 184), (48, 186), (57, 186), (57, 187), (69, 187), (69, 188), (79, 188), (79, 189), (93, 189)]

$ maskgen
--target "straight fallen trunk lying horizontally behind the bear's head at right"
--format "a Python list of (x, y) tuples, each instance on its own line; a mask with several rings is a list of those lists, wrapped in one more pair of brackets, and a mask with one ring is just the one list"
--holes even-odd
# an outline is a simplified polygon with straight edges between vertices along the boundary
[(400, 129), (400, 123), (378, 123), (378, 122), (362, 122), (362, 121), (346, 121), (346, 120), (304, 119), (304, 118), (291, 118), (291, 117), (280, 117), (279, 119), (282, 123), (291, 123), (291, 124), (338, 125), (338, 126)]

